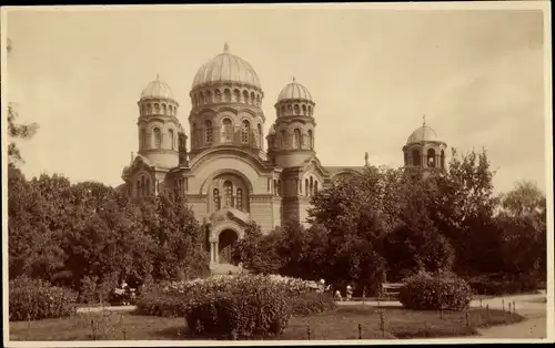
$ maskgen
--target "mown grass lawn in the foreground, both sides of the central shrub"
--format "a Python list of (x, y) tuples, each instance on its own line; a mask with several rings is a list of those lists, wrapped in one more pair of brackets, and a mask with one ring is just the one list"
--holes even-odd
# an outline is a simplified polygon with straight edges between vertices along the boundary
[[(384, 330), (381, 329), (383, 311)], [(416, 311), (402, 308), (342, 306), (334, 311), (291, 318), (284, 334), (274, 339), (363, 339), (460, 337), (477, 327), (523, 320), (517, 314), (473, 308), (462, 313)], [(361, 331), (359, 330), (359, 325)], [(179, 340), (195, 339), (183, 318), (141, 316), (132, 311), (79, 314), (62, 319), (10, 323), (11, 340)]]

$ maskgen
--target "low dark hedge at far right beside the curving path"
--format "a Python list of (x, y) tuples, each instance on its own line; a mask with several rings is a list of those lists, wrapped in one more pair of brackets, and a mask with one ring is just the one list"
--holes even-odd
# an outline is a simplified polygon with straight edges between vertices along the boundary
[(541, 279), (529, 275), (491, 274), (471, 278), (468, 284), (478, 295), (513, 295), (537, 290)]

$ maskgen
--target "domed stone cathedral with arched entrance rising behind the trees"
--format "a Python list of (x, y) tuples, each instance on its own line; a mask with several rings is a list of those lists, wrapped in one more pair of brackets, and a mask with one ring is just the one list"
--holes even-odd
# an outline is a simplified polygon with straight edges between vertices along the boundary
[[(206, 232), (212, 269), (231, 267), (230, 246), (249, 222), (263, 232), (291, 218), (305, 224), (314, 193), (364, 167), (320, 163), (316, 103), (294, 79), (278, 95), (276, 120), (265, 131), (259, 76), (228, 44), (199, 69), (189, 95), (188, 134), (167, 83), (157, 76), (142, 91), (139, 149), (123, 168), (122, 187), (134, 197), (181, 191)], [(403, 146), (404, 163), (444, 167), (445, 150), (424, 122)]]

